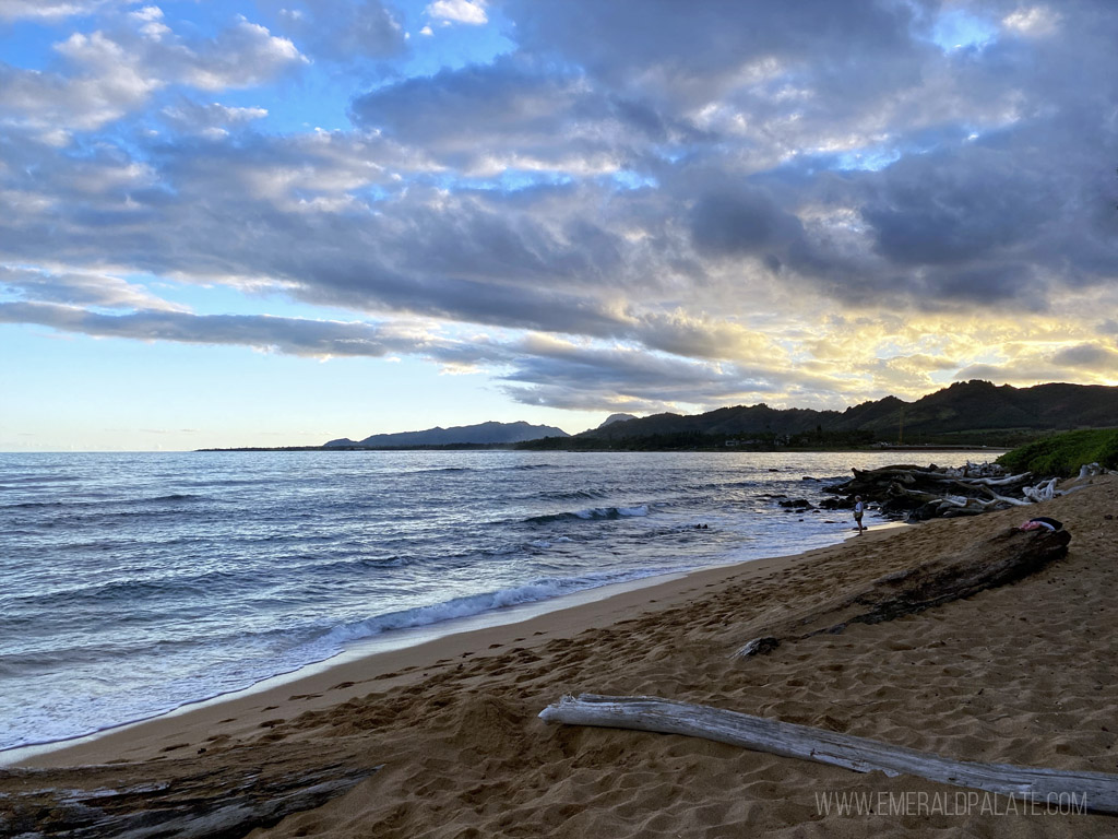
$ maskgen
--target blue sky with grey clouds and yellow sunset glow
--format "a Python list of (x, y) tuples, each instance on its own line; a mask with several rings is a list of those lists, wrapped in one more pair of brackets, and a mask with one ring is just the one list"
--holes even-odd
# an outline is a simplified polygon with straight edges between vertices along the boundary
[(1111, 0), (0, 0), (0, 450), (1118, 385)]

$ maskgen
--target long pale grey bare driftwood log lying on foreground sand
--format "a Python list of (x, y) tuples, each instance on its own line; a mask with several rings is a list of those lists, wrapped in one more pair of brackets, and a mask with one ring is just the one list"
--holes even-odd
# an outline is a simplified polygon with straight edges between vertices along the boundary
[(577, 699), (568, 696), (549, 705), (540, 713), (540, 718), (567, 725), (703, 737), (758, 752), (827, 763), (855, 772), (879, 770), (891, 776), (916, 775), (1041, 804), (1073, 800), (1077, 805), (1087, 810), (1118, 813), (1118, 775), (1064, 772), (1006, 763), (953, 761), (930, 752), (918, 752), (865, 737), (852, 737), (707, 705), (689, 705), (647, 696), (582, 694)]

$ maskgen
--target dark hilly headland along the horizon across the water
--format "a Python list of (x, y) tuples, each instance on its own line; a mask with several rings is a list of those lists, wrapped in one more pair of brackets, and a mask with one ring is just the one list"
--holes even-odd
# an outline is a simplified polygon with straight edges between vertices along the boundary
[(549, 425), (487, 422), (360, 441), (342, 437), (319, 446), (202, 451), (1012, 449), (1055, 432), (1116, 426), (1118, 387), (1057, 383), (1015, 388), (972, 380), (911, 403), (887, 396), (842, 412), (761, 403), (693, 415), (614, 414), (574, 435)]

